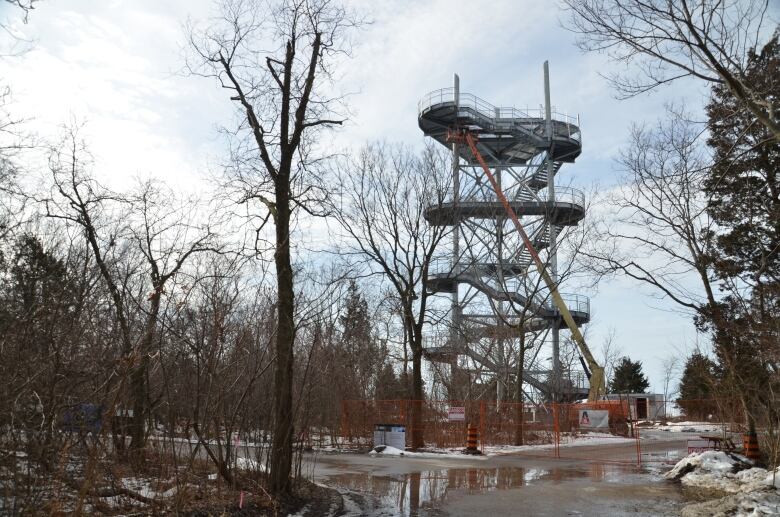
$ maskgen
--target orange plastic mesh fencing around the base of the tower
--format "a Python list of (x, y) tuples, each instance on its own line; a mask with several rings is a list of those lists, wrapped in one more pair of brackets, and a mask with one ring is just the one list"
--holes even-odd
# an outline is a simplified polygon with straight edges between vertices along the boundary
[[(452, 421), (451, 408), (463, 408), (463, 420)], [(593, 418), (601, 422), (600, 427), (593, 427)], [(543, 445), (545, 447), (540, 447), (539, 453), (560, 455), (559, 447), (577, 441), (622, 444), (625, 448), (626, 443), (629, 446), (631, 443), (627, 439), (636, 439), (640, 454), (643, 430), (683, 434), (739, 433), (744, 429), (744, 414), (734, 400), (663, 401), (651, 397), (536, 405), (482, 400), (342, 402), (338, 432), (342, 443), (372, 445), (377, 424), (406, 426), (406, 444), (412, 447), (415, 446), (412, 437), (418, 431), (422, 443), (417, 446), (463, 448), (467, 426), (472, 424), (479, 430), (480, 448)], [(611, 438), (616, 440), (611, 442)]]

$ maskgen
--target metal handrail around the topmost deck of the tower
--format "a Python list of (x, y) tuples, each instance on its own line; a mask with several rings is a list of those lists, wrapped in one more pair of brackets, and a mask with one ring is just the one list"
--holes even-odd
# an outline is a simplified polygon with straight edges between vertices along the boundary
[[(455, 103), (455, 89), (452, 87), (441, 88), (428, 92), (417, 103), (417, 115), (422, 116), (427, 110), (433, 106), (445, 103)], [(515, 107), (498, 107), (490, 104), (484, 99), (477, 97), (474, 94), (461, 92), (458, 96), (458, 106), (464, 108), (470, 108), (479, 115), (493, 121), (501, 122), (512, 119), (536, 119), (544, 120), (545, 110), (543, 106), (539, 108), (526, 108), (525, 110), (519, 110)], [(567, 134), (570, 138), (577, 139), (579, 136), (579, 117), (574, 117), (566, 113), (562, 113), (555, 109), (553, 106), (552, 118), (554, 123), (565, 124), (567, 126)], [(555, 125), (555, 124), (554, 124)], [(572, 128), (573, 126), (573, 128)], [(560, 132), (556, 131), (560, 134)]]

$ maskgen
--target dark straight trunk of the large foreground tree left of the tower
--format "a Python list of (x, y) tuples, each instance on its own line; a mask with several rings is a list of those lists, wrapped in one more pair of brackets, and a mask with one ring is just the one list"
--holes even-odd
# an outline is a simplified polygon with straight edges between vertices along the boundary
[(277, 181), (276, 188), (277, 325), (276, 370), (274, 372), (274, 434), (271, 444), (269, 489), (276, 495), (290, 493), (293, 437), (293, 343), (295, 341), (295, 293), (290, 258), (289, 182)]

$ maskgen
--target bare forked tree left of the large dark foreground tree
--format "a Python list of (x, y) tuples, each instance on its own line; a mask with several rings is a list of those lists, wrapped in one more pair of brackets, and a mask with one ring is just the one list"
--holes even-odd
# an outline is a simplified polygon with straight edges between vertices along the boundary
[[(146, 443), (145, 422), (150, 409), (147, 371), (166, 284), (191, 255), (214, 250), (214, 235), (208, 226), (193, 224), (192, 213), (188, 217), (186, 211), (196, 205), (186, 202), (177, 206), (170, 191), (161, 191), (151, 183), (142, 185), (135, 197), (112, 193), (90, 176), (89, 166), (89, 154), (77, 130), (68, 131), (62, 146), (52, 152), (53, 193), (43, 202), (48, 217), (81, 228), (111, 295), (120, 330), (122, 371), (129, 376), (133, 407), (130, 447), (137, 450)], [(137, 221), (132, 220), (134, 216)], [(140, 254), (142, 264), (116, 260), (127, 258), (131, 249)], [(142, 285), (151, 290), (133, 297), (125, 267), (143, 271), (148, 283)], [(131, 319), (136, 307), (142, 314), (141, 332), (135, 330)], [(123, 440), (117, 441), (120, 448), (123, 444)]]

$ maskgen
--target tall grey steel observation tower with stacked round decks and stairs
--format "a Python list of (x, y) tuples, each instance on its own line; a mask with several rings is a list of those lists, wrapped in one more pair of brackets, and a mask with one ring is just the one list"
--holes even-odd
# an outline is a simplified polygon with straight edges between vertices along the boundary
[[(479, 154), (522, 219), (534, 248), (545, 250), (546, 272), (557, 285), (558, 236), (582, 220), (585, 202), (582, 192), (556, 187), (555, 176), (563, 164), (575, 161), (582, 144), (579, 121), (551, 107), (546, 62), (544, 78), (545, 106), (536, 110), (496, 107), (463, 93), (457, 75), (452, 88), (433, 91), (419, 102), (420, 129), (452, 153), (452, 199), (430, 206), (425, 214), (431, 224), (453, 227), (451, 257), (434, 265), (427, 284), (429, 291), (450, 293), (451, 326), (446, 342), (427, 347), (426, 356), (450, 363), (453, 376), (459, 356), (501, 376), (510, 368), (513, 340), (548, 332), (550, 368), (524, 371), (523, 380), (546, 398), (561, 399), (581, 396), (587, 388), (584, 382), (573, 382), (561, 365), (560, 311), (539, 282), (529, 249), (508, 221), (474, 153), (449, 138), (453, 128), (479, 134)], [(589, 321), (587, 297), (563, 298), (577, 325)], [(501, 382), (497, 385), (501, 399)]]

